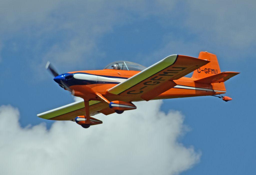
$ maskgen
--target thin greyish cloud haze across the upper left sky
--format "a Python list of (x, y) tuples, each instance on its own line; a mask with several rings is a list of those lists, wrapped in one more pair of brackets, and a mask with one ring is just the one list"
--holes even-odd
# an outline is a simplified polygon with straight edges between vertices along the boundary
[[(30, 53), (44, 67), (50, 60), (72, 68), (94, 63), (104, 53), (97, 50), (99, 38), (114, 27), (152, 15), (163, 15), (175, 5), (169, 1), (1, 1), (0, 39), (25, 35)], [(54, 38), (54, 41), (50, 41)], [(51, 43), (53, 42), (53, 43)], [(49, 45), (50, 43), (50, 45)], [(46, 48), (45, 48), (46, 47)], [(42, 49), (44, 48), (44, 49)], [(34, 67), (34, 66), (33, 66)], [(38, 66), (36, 66), (38, 68)]]

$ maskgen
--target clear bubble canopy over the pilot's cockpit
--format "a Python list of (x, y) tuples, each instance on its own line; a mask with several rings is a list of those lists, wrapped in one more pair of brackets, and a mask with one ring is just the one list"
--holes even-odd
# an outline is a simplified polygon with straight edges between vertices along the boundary
[(131, 61), (115, 61), (108, 64), (104, 69), (117, 69), (117, 70), (136, 70), (142, 71), (146, 69), (145, 66), (142, 66)]

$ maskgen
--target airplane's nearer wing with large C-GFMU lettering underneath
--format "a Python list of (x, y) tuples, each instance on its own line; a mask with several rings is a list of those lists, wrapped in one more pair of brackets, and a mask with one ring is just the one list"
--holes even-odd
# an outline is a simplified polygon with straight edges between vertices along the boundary
[(170, 55), (111, 89), (109, 93), (140, 96), (148, 101), (176, 85), (173, 80), (209, 63), (207, 60), (184, 55)]

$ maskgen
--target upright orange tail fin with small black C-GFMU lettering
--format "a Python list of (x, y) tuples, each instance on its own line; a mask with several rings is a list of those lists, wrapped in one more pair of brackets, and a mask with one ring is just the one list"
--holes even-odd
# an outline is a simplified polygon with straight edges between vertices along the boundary
[(202, 79), (221, 72), (216, 55), (208, 52), (200, 52), (198, 59), (205, 59), (210, 61), (210, 63), (195, 70), (192, 78)]

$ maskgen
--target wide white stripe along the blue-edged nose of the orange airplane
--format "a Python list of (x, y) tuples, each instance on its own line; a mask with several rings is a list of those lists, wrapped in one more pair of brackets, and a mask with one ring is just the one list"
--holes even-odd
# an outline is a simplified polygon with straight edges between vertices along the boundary
[(108, 78), (108, 77), (101, 77), (101, 76), (97, 76), (97, 75), (82, 74), (82, 73), (74, 74), (73, 77), (75, 79), (80, 79), (80, 80), (108, 81), (108, 82), (120, 82), (120, 83), (127, 80), (127, 79), (123, 79), (123, 78)]

